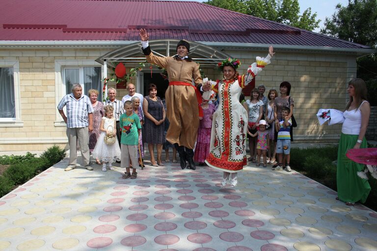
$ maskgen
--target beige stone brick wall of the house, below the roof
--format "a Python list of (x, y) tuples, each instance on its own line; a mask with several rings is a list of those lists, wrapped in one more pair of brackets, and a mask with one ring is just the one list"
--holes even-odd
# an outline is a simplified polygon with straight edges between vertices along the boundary
[[(53, 144), (66, 146), (64, 126), (56, 126), (55, 61), (94, 60), (109, 50), (0, 50), (0, 59), (17, 60), (20, 66), (20, 108), (22, 127), (1, 126), (0, 151), (43, 151)], [(240, 73), (261, 52), (225, 51), (242, 61)], [(149, 69), (148, 69), (149, 70)], [(203, 69), (211, 78), (222, 75), (216, 69)], [(355, 58), (335, 54), (293, 54), (277, 52), (272, 63), (256, 77), (256, 85), (278, 89), (280, 82), (292, 84), (294, 114), (298, 123), (295, 139), (337, 141), (340, 126), (319, 126), (319, 108), (345, 107), (346, 87), (356, 72)], [(131, 80), (135, 83), (135, 78)], [(114, 87), (113, 83), (109, 87)], [(137, 91), (137, 90), (136, 90)], [(121, 99), (128, 92), (118, 90)], [(267, 94), (267, 92), (266, 92)]]

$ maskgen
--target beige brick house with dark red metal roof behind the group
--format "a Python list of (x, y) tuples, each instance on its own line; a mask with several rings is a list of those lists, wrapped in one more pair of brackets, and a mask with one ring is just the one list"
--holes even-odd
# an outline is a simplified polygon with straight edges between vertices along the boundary
[[(344, 109), (347, 84), (356, 76), (356, 58), (375, 52), (199, 2), (14, 0), (2, 5), (0, 151), (65, 147), (66, 126), (57, 103), (77, 82), (85, 94), (94, 88), (101, 96), (103, 79), (116, 62), (125, 62), (127, 71), (143, 62), (139, 28), (149, 31), (152, 50), (162, 55), (173, 55), (178, 39), (194, 41), (191, 57), (210, 79), (222, 77), (216, 63), (226, 56), (241, 60), (242, 74), (272, 45), (276, 54), (256, 76), (255, 85), (264, 84), (267, 94), (278, 90), (282, 81), (292, 84), (295, 142), (337, 142), (341, 127), (320, 126), (316, 113), (319, 108)], [(185, 16), (181, 9), (193, 11)], [(166, 84), (159, 72), (146, 64), (131, 79), (136, 92), (146, 94), (150, 81), (157, 81), (159, 88)], [(116, 85), (109, 82), (107, 87)], [(126, 94), (117, 89), (118, 99)]]

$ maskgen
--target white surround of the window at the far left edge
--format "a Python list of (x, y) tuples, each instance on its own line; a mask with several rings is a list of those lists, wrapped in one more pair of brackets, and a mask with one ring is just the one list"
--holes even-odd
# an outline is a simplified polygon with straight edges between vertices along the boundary
[(15, 118), (0, 118), (0, 127), (22, 127), (20, 100), (20, 64), (18, 60), (0, 59), (0, 68), (13, 68)]

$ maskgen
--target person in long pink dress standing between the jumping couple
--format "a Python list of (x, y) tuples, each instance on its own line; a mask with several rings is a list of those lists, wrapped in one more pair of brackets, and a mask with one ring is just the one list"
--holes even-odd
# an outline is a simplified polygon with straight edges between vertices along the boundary
[(194, 161), (199, 162), (199, 166), (204, 166), (204, 160), (210, 154), (212, 116), (216, 110), (215, 105), (209, 104), (208, 100), (203, 100), (203, 117), (199, 117), (198, 137), (194, 151)]

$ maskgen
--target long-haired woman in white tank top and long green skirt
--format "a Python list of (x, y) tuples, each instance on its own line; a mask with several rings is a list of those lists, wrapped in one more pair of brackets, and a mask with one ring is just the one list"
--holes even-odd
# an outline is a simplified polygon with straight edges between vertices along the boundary
[(364, 170), (363, 164), (350, 160), (346, 153), (349, 149), (367, 148), (365, 132), (368, 127), (371, 107), (367, 99), (367, 87), (361, 78), (354, 78), (348, 84), (347, 91), (350, 101), (343, 113), (345, 121), (342, 126), (338, 147), (337, 164), (337, 200), (354, 205), (360, 201), (364, 203), (371, 191), (368, 180), (357, 176), (357, 172)]

